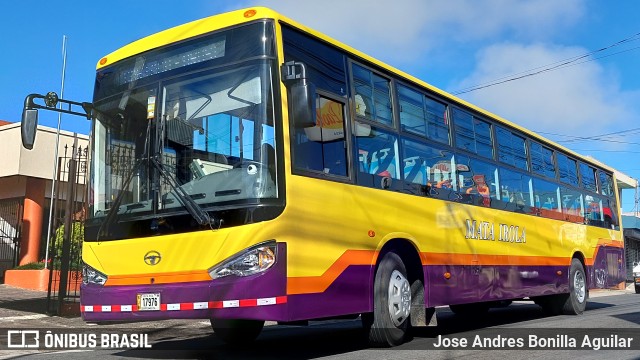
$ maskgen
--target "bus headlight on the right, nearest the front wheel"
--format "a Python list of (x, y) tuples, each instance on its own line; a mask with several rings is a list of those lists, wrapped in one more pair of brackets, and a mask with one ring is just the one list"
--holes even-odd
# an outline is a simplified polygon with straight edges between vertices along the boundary
[(212, 279), (229, 275), (251, 276), (269, 269), (276, 262), (276, 242), (269, 241), (232, 256), (209, 269)]

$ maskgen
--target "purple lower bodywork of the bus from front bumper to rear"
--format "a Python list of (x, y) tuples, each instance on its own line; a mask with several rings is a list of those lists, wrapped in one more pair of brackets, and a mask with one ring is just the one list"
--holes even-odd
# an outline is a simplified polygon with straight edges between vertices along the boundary
[[(284, 254), (285, 249), (279, 248), (279, 251)], [(601, 252), (616, 256), (621, 253), (617, 248), (607, 248)], [(606, 254), (603, 256), (606, 259)], [(596, 260), (602, 258), (599, 253)], [(211, 317), (296, 321), (369, 312), (373, 309), (373, 269), (368, 265), (349, 266), (324, 292), (289, 295), (284, 304), (162, 312), (85, 312), (83, 315), (87, 321)], [(617, 284), (615, 278), (597, 280), (601, 270), (601, 266), (587, 267), (590, 288), (612, 287)], [(569, 291), (568, 271), (568, 266), (423, 266), (426, 279), (425, 304), (433, 307), (566, 293)], [(445, 277), (446, 273), (451, 275), (448, 279)], [(279, 262), (261, 276), (244, 279), (230, 277), (217, 282), (106, 288), (84, 286), (81, 303), (126, 305), (135, 303), (136, 295), (144, 292), (160, 292), (162, 303), (165, 304), (278, 297), (286, 295), (286, 268), (284, 262)]]

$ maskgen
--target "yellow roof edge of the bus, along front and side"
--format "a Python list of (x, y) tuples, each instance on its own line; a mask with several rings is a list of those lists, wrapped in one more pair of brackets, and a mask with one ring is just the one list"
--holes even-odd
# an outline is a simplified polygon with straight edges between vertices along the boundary
[(454, 103), (456, 103), (457, 105), (461, 105), (464, 107), (467, 107), (469, 109), (472, 109), (473, 111), (476, 111), (484, 116), (487, 116), (491, 119), (495, 119), (501, 123), (504, 123), (507, 126), (510, 126), (514, 129), (517, 129), (519, 131), (521, 131), (522, 133), (530, 136), (531, 138), (538, 140), (542, 143), (545, 143), (547, 145), (550, 145), (552, 147), (555, 147), (557, 149), (560, 149), (562, 151), (565, 151), (566, 153), (572, 155), (573, 157), (576, 157), (578, 159), (580, 159), (581, 161), (584, 161), (586, 163), (589, 163), (591, 165), (594, 165), (596, 167), (599, 168), (604, 168), (610, 172), (615, 172), (615, 169), (609, 167), (608, 165), (605, 165), (603, 163), (601, 163), (600, 161), (597, 161), (595, 159), (593, 159), (592, 157), (587, 157), (584, 155), (581, 155), (563, 145), (560, 145), (554, 141), (551, 141), (531, 130), (528, 130), (516, 123), (513, 123), (501, 116), (498, 116), (496, 114), (493, 114), (492, 112), (482, 109), (476, 105), (473, 105), (465, 100), (462, 100), (460, 98), (458, 98), (455, 95), (452, 95), (444, 90), (441, 90), (433, 85), (430, 85), (428, 83), (426, 83), (423, 80), (420, 80), (418, 78), (416, 78), (415, 76), (412, 76), (410, 74), (405, 73), (402, 70), (399, 70), (391, 65), (388, 65), (380, 60), (377, 60), (376, 58), (369, 56), (357, 49), (354, 49), (353, 47), (346, 45), (338, 40), (335, 40), (319, 31), (316, 31), (312, 28), (309, 28), (295, 20), (292, 20), (278, 12), (275, 12), (274, 10), (271, 10), (269, 8), (265, 8), (265, 7), (253, 7), (253, 8), (246, 8), (246, 9), (240, 9), (240, 10), (235, 10), (235, 11), (231, 11), (231, 12), (227, 12), (227, 13), (223, 13), (223, 14), (218, 14), (218, 15), (213, 15), (210, 17), (206, 17), (200, 20), (195, 20), (183, 25), (179, 25), (167, 30), (163, 30), (161, 32), (146, 36), (142, 39), (133, 41), (125, 46), (123, 46), (122, 48), (108, 54), (107, 56), (103, 57), (102, 59), (100, 59), (100, 61), (98, 62), (96, 69), (101, 69), (105, 66), (114, 64), (120, 60), (126, 59), (128, 57), (131, 56), (135, 56), (137, 54), (143, 53), (145, 51), (149, 51), (155, 48), (159, 48), (165, 45), (169, 45), (169, 44), (173, 44), (179, 41), (183, 41), (189, 38), (193, 38), (193, 37), (197, 37), (215, 30), (219, 30), (222, 28), (226, 28), (229, 26), (233, 26), (233, 25), (238, 25), (238, 24), (243, 24), (243, 23), (247, 23), (247, 22), (251, 22), (251, 21), (255, 21), (258, 19), (274, 19), (276, 21), (280, 21), (282, 23), (285, 23), (287, 25), (293, 26), (299, 30), (302, 30), (310, 35), (313, 35), (341, 50), (344, 50), (348, 53), (350, 53), (351, 55), (354, 55), (356, 57), (359, 57), (367, 62), (370, 62), (372, 64), (375, 64), (376, 66), (378, 66), (381, 69), (384, 69), (390, 73), (393, 74), (397, 74), (400, 77), (404, 78), (405, 80), (408, 80), (410, 82), (413, 82), (416, 85), (419, 85), (421, 87), (425, 87), (428, 88), (429, 90), (437, 93), (438, 95), (442, 96), (443, 98), (446, 98), (447, 100), (450, 100)]

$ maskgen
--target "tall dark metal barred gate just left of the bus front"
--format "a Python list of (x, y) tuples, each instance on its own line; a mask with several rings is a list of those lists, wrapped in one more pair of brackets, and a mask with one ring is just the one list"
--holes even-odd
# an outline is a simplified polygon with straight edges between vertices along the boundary
[[(87, 147), (65, 146), (58, 159), (53, 202), (53, 226), (49, 240), (49, 290), (47, 312), (63, 315), (78, 306), (82, 283), (82, 242), (87, 183)], [(67, 229), (70, 229), (69, 231)]]

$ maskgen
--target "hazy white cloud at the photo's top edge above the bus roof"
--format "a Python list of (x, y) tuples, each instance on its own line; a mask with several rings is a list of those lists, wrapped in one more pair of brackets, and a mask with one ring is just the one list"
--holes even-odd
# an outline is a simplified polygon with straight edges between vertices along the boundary
[[(541, 39), (575, 23), (584, 0), (278, 0), (263, 4), (384, 61), (409, 63), (451, 42)], [(238, 6), (242, 6), (239, 5)]]

